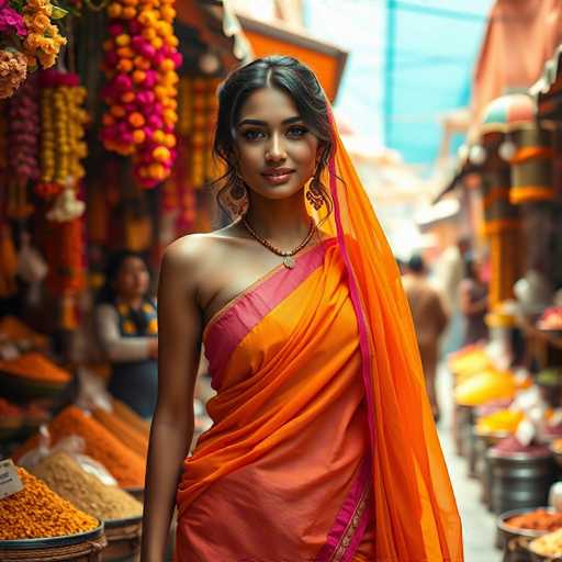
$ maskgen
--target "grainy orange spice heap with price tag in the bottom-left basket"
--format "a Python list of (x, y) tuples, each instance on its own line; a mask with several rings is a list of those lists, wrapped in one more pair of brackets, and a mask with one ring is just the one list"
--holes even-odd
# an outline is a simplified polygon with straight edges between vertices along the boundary
[(43, 539), (77, 535), (99, 527), (94, 517), (80, 512), (22, 468), (23, 490), (0, 499), (0, 540)]

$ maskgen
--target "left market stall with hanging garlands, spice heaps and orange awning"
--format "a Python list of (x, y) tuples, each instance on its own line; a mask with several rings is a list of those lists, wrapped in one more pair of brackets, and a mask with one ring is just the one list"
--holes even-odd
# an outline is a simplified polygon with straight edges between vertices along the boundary
[[(296, 55), (334, 99), (346, 54), (227, 2), (9, 0), (0, 13), (0, 559), (133, 560), (149, 422), (104, 384), (92, 313), (109, 257), (157, 270), (168, 243), (224, 223), (212, 144), (233, 67)], [(203, 398), (195, 415), (196, 438)]]

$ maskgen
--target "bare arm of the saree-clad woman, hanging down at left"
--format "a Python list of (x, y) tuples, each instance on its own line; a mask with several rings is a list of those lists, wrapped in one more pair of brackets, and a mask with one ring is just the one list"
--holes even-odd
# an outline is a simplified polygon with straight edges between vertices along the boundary
[(158, 403), (150, 429), (142, 562), (164, 562), (176, 490), (193, 436), (193, 391), (201, 351), (201, 316), (189, 240), (164, 257), (158, 288)]

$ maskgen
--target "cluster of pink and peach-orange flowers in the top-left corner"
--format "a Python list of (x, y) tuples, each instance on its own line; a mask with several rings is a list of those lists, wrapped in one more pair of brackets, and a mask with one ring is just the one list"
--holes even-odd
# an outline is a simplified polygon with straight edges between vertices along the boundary
[(0, 98), (11, 97), (29, 71), (55, 64), (66, 38), (53, 21), (66, 13), (50, 0), (0, 0)]

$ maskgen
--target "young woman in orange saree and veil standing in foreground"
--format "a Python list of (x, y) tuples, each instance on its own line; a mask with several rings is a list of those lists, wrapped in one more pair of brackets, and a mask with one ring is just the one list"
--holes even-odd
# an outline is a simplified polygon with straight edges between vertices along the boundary
[[(175, 502), (180, 562), (461, 561), (400, 273), (314, 74), (235, 70), (215, 153), (243, 215), (166, 251), (143, 562)], [(202, 341), (214, 424), (184, 460)]]

